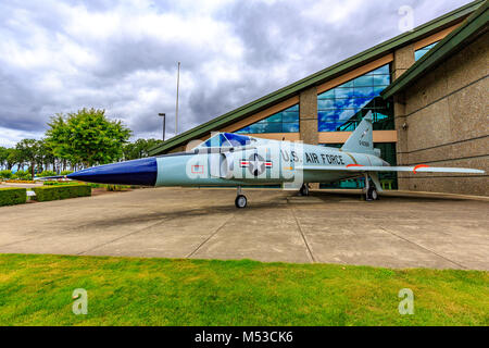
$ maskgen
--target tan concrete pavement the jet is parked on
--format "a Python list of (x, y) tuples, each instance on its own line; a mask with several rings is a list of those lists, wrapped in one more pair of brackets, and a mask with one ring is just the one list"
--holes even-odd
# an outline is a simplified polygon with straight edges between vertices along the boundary
[(1, 207), (0, 252), (489, 270), (487, 200), (244, 192), (242, 210), (234, 189), (195, 188)]

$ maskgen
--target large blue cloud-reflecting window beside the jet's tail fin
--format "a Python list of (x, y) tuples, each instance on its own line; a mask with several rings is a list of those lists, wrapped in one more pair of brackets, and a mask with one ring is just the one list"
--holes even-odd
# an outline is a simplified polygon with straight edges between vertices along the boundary
[(372, 110), (374, 129), (393, 129), (391, 99), (380, 92), (390, 84), (389, 64), (377, 67), (317, 96), (319, 132), (354, 130)]

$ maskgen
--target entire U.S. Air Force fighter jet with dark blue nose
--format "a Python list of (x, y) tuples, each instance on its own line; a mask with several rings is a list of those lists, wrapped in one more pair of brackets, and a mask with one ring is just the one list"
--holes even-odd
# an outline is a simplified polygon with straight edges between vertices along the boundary
[(85, 169), (67, 178), (90, 183), (143, 186), (235, 186), (237, 208), (247, 207), (243, 185), (281, 184), (309, 195), (309, 183), (364, 177), (366, 200), (378, 199), (379, 172), (484, 173), (480, 170), (435, 167), (425, 164), (390, 166), (373, 147), (368, 112), (340, 148), (277, 141), (217, 133), (197, 147), (178, 153)]

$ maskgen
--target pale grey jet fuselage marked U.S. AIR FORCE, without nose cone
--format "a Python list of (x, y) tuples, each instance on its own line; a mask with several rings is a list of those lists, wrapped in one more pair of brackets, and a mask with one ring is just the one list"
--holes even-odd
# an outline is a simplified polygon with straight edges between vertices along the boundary
[[(358, 173), (331, 172), (325, 175), (308, 171), (309, 166), (386, 166), (373, 154), (344, 152), (322, 146), (269, 140), (240, 151), (201, 149), (155, 158), (155, 186), (237, 186), (281, 184), (300, 179), (303, 183), (336, 182), (359, 176)], [(300, 167), (300, 169), (299, 169)]]

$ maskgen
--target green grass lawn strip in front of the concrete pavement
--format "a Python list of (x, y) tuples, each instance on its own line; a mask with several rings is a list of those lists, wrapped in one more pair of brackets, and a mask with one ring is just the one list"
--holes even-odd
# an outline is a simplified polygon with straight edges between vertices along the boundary
[(488, 325), (488, 295), (478, 271), (0, 254), (0, 325)]

